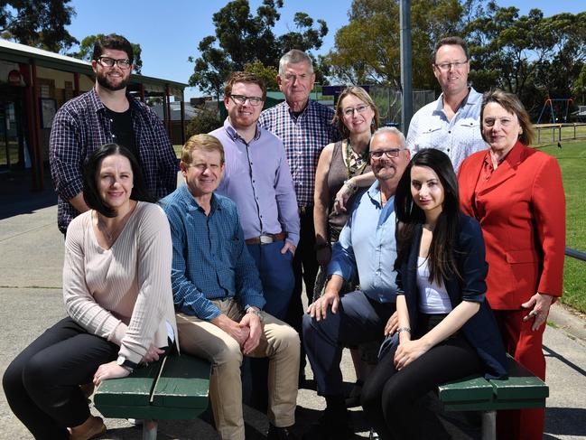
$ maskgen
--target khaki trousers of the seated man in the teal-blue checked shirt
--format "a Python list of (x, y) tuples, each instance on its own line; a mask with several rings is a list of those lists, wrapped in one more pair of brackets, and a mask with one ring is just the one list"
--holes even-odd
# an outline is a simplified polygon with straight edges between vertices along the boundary
[[(222, 314), (240, 322), (242, 307), (233, 299), (214, 300)], [(274, 426), (295, 423), (299, 379), (299, 335), (292, 327), (270, 314), (265, 315), (263, 332), (254, 358), (268, 358), (268, 418)], [(207, 359), (212, 364), (209, 399), (222, 440), (245, 440), (242, 416), (242, 351), (235, 339), (213, 323), (195, 316), (177, 314), (181, 350)]]

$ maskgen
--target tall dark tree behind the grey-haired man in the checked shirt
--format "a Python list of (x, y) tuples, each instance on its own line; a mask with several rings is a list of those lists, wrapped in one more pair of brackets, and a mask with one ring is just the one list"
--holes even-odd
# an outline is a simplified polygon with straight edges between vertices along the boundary
[(328, 27), (323, 20), (317, 20), (316, 27), (304, 13), (294, 15), (296, 32), (274, 35), (274, 24), (281, 18), (278, 9), (282, 7), (283, 0), (263, 0), (256, 15), (251, 14), (248, 0), (233, 0), (222, 7), (212, 17), (215, 36), (204, 37), (198, 45), (200, 57), (189, 59), (195, 63), (190, 85), (219, 98), (234, 70), (245, 70), (248, 65), (248, 69), (254, 66), (265, 73), (277, 66), (286, 51), (319, 49)]

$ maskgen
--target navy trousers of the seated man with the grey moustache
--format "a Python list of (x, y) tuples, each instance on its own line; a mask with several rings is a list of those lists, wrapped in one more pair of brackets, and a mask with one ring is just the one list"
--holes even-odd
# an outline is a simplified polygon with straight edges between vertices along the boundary
[(381, 304), (356, 291), (341, 296), (336, 314), (328, 308), (326, 319), (303, 315), (303, 344), (319, 395), (343, 396), (340, 360), (344, 347), (382, 340), (394, 313), (395, 303)]

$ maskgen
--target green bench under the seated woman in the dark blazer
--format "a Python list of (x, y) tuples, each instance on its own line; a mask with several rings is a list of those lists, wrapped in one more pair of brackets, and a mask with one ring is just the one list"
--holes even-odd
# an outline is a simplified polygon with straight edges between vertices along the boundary
[(481, 411), (482, 440), (497, 438), (497, 410), (545, 407), (549, 387), (508, 357), (508, 379), (470, 377), (438, 387), (446, 411)]

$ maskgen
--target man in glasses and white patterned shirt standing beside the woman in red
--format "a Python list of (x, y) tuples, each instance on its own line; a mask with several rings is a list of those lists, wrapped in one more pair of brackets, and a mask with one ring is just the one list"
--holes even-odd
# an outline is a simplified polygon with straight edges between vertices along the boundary
[(480, 135), (482, 95), (468, 84), (470, 57), (466, 42), (456, 36), (440, 40), (435, 45), (432, 67), (442, 94), (414, 114), (407, 146), (412, 154), (423, 148), (441, 150), (450, 156), (458, 171), (466, 157), (487, 148)]

